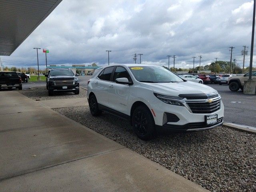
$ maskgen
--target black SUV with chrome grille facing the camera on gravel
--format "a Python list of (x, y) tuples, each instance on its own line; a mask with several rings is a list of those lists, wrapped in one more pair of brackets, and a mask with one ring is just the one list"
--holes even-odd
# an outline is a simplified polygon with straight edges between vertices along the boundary
[(46, 76), (49, 96), (54, 92), (74, 92), (79, 94), (79, 81), (70, 69), (51, 69)]

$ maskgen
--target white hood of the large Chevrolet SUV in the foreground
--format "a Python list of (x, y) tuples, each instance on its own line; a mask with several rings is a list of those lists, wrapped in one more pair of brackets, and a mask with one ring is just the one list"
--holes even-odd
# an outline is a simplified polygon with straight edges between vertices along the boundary
[(144, 87), (152, 89), (155, 93), (176, 96), (179, 94), (206, 94), (208, 96), (216, 95), (218, 92), (206, 85), (196, 82), (178, 82), (178, 83), (142, 83)]

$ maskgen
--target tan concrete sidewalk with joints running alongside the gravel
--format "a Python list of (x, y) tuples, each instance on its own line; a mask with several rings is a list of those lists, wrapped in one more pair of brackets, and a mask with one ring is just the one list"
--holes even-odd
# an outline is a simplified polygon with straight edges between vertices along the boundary
[(207, 191), (16, 91), (0, 108), (1, 191)]

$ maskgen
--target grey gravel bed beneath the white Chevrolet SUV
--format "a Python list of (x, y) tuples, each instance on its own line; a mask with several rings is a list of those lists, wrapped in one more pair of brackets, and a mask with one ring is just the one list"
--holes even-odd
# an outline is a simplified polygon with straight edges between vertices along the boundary
[(129, 122), (104, 112), (93, 117), (88, 106), (54, 110), (210, 191), (256, 191), (256, 134), (219, 127), (143, 141)]

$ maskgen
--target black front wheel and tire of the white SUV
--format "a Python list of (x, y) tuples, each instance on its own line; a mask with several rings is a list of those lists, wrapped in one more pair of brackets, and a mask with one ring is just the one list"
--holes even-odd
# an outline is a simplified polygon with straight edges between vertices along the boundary
[(156, 136), (154, 118), (146, 106), (138, 106), (132, 114), (132, 126), (135, 134), (142, 140)]

